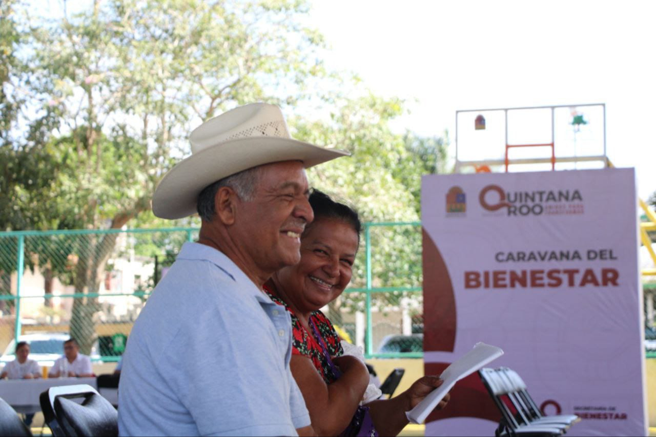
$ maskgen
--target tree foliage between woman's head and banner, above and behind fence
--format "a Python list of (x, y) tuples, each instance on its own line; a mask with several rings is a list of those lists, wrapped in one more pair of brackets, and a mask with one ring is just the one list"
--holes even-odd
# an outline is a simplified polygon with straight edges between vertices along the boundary
[[(310, 169), (313, 186), (351, 203), (363, 221), (417, 222), (420, 220), (421, 176), (445, 167), (444, 138), (400, 135), (390, 122), (403, 114), (403, 102), (367, 94), (331, 102), (325, 119), (297, 121), (297, 136), (315, 144), (351, 152)], [(445, 137), (447, 138), (447, 137)], [(373, 287), (420, 287), (421, 232), (419, 226), (373, 227)], [(364, 287), (365, 253), (360, 251), (352, 287)], [(397, 306), (407, 293), (375, 295), (380, 308)], [(342, 304), (363, 309), (363, 296), (345, 294)]]

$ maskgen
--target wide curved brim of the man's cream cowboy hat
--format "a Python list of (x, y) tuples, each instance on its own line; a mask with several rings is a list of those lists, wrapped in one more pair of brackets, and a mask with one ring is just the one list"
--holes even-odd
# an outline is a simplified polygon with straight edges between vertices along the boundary
[(262, 136), (230, 140), (183, 159), (164, 175), (155, 189), (153, 213), (171, 220), (193, 215), (203, 188), (258, 165), (302, 161), (307, 169), (348, 155), (343, 150), (325, 149), (291, 138)]

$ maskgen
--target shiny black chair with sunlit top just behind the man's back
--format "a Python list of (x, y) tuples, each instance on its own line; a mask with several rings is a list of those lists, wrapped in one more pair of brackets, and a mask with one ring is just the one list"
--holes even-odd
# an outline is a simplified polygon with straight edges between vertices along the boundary
[(52, 387), (41, 393), (39, 402), (45, 422), (55, 437), (114, 437), (119, 434), (117, 411), (90, 385)]

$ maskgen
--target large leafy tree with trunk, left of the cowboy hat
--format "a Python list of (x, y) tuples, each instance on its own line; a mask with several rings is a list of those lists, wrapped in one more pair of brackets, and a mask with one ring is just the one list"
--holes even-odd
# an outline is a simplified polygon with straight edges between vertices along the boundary
[[(188, 152), (192, 125), (247, 102), (302, 98), (308, 77), (325, 73), (315, 54), (321, 37), (302, 24), (307, 8), (293, 0), (113, 0), (61, 20), (24, 17), (18, 37), (30, 68), (18, 80), (37, 114), (28, 130), (47, 135), (18, 143), (57, 167), (56, 201), (70, 223), (117, 229), (148, 215), (155, 184)], [(33, 219), (26, 227), (47, 222)], [(56, 254), (67, 272), (75, 264), (76, 293), (98, 291), (116, 236), (85, 236)], [(85, 352), (97, 310), (94, 297), (73, 305), (72, 335)]]

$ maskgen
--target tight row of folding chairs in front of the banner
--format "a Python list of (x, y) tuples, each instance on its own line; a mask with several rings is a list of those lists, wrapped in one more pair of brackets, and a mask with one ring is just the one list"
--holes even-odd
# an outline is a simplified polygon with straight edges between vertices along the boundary
[(501, 411), (497, 436), (561, 436), (581, 419), (577, 415), (542, 415), (518, 373), (507, 367), (478, 371)]

